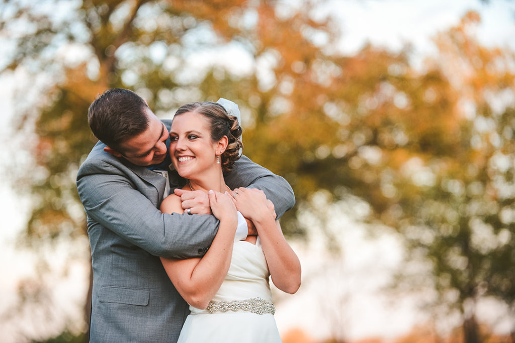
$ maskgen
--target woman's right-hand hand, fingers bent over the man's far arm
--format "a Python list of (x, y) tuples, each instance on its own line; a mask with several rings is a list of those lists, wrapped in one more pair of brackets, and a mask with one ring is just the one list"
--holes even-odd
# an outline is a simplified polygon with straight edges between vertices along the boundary
[(240, 187), (232, 192), (232, 201), (236, 209), (251, 221), (261, 220), (265, 216), (276, 219), (276, 212), (271, 201), (263, 191), (254, 188)]

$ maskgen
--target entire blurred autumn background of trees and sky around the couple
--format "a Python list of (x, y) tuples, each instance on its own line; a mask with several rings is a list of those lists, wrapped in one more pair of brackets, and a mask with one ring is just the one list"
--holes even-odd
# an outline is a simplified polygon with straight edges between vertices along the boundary
[(515, 342), (515, 3), (0, 0), (0, 341), (83, 342), (87, 109), (235, 101), (283, 175), (287, 342)]

